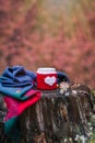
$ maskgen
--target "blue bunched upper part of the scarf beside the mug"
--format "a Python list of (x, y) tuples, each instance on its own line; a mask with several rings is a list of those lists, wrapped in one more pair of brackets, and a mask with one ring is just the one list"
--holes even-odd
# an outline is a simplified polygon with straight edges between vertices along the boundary
[(23, 66), (8, 67), (0, 77), (0, 92), (17, 99), (25, 99), (26, 91), (36, 85), (36, 74)]

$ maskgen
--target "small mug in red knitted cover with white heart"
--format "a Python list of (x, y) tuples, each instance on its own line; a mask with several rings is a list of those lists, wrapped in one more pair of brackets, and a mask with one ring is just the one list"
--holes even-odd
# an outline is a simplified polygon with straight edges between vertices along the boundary
[(56, 68), (44, 67), (37, 69), (37, 88), (51, 90), (57, 88)]

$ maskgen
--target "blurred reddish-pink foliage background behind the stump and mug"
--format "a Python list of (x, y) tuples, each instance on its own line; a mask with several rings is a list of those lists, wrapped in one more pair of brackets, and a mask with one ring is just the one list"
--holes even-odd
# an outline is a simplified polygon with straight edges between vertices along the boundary
[(0, 63), (56, 67), (95, 88), (95, 0), (0, 0)]

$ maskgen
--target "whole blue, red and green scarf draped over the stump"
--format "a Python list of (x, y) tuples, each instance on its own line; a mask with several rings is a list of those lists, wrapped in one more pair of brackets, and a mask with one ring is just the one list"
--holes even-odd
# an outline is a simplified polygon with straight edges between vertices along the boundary
[(36, 74), (25, 70), (23, 66), (8, 67), (0, 77), (0, 94), (4, 96), (8, 113), (4, 119), (4, 133), (19, 143), (19, 116), (40, 99), (41, 92), (33, 90)]

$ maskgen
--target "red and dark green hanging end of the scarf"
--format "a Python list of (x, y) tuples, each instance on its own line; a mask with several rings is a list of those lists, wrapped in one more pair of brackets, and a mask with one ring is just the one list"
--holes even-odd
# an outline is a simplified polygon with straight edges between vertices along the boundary
[(25, 95), (26, 100), (19, 100), (12, 97), (4, 97), (8, 108), (8, 114), (4, 119), (4, 133), (13, 142), (19, 143), (21, 139), (19, 116), (29, 106), (34, 105), (40, 99), (40, 91), (31, 89)]

